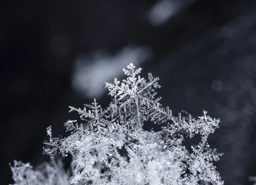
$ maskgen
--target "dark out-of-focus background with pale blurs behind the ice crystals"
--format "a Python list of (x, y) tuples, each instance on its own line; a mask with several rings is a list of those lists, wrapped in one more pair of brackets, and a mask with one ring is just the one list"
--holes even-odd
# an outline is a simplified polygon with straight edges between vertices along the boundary
[[(68, 106), (110, 98), (104, 82), (133, 63), (160, 78), (173, 115), (220, 118), (209, 144), (226, 185), (256, 176), (256, 1), (3, 0), (0, 3), (0, 184), (8, 163), (36, 166), (52, 125), (79, 119)], [(146, 126), (150, 129), (151, 125)], [(194, 145), (197, 143), (193, 143)]]

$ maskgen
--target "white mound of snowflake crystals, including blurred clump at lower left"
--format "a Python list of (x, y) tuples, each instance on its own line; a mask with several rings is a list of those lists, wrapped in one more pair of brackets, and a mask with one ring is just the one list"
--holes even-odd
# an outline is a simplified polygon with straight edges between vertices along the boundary
[[(67, 138), (52, 138), (45, 143), (44, 153), (53, 157), (61, 154), (73, 156), (74, 169), (71, 178), (57, 168), (47, 168), (44, 184), (60, 183), (59, 178), (71, 184), (95, 185), (222, 185), (221, 177), (213, 166), (222, 153), (211, 149), (207, 137), (218, 128), (219, 119), (204, 115), (195, 119), (186, 111), (177, 117), (169, 107), (163, 107), (156, 98), (159, 78), (148, 73), (148, 81), (140, 77), (142, 69), (133, 64), (123, 69), (127, 78), (106, 83), (112, 100), (102, 107), (94, 99), (84, 108), (70, 107), (80, 115), (81, 123), (69, 120), (64, 126), (70, 132)], [(184, 116), (183, 116), (184, 114)], [(145, 121), (161, 124), (159, 132), (144, 131)], [(182, 145), (183, 136), (192, 138), (200, 134), (202, 141), (192, 146), (192, 153)], [(56, 168), (56, 169), (55, 169)], [(52, 172), (55, 169), (54, 173)], [(42, 184), (41, 174), (29, 164), (16, 162), (12, 167), (16, 183)], [(62, 175), (60, 175), (62, 174)]]

